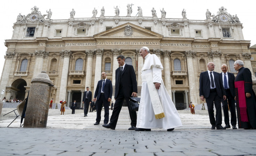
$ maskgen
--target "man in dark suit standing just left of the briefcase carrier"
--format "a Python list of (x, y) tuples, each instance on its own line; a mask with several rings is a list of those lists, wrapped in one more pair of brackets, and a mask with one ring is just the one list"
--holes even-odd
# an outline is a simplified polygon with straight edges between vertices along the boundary
[(107, 74), (105, 72), (101, 73), (102, 80), (98, 81), (93, 101), (96, 101), (97, 97), (97, 117), (94, 125), (98, 125), (101, 121), (101, 110), (102, 104), (104, 106), (104, 125), (109, 122), (109, 101), (111, 101), (113, 88), (112, 82), (107, 79)]

